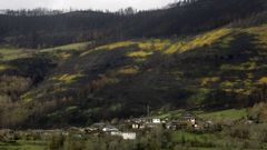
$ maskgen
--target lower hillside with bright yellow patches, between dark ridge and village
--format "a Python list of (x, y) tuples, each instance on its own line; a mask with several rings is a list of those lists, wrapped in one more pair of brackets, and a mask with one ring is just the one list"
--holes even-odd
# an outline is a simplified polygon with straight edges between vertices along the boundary
[(85, 126), (144, 116), (147, 106), (164, 114), (265, 101), (264, 14), (181, 38), (1, 48), (1, 126)]

